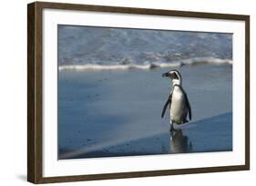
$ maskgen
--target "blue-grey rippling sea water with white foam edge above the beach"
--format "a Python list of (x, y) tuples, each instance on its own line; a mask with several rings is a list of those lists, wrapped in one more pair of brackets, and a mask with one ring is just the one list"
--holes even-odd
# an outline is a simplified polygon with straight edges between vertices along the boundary
[(58, 25), (60, 70), (148, 69), (231, 60), (232, 34)]

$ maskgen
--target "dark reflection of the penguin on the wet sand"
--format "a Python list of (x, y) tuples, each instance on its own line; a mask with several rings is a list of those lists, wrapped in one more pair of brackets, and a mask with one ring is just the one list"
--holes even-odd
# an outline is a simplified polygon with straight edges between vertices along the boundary
[(189, 138), (183, 135), (182, 130), (173, 130), (169, 132), (169, 150), (172, 153), (184, 153), (192, 151), (192, 143)]

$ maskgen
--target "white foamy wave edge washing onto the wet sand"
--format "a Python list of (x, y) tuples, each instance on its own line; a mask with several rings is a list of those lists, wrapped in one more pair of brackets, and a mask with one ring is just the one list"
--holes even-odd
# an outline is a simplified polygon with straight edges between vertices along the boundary
[(150, 70), (154, 68), (177, 68), (183, 65), (196, 65), (196, 64), (232, 64), (230, 59), (220, 59), (214, 57), (201, 57), (201, 58), (190, 58), (180, 60), (177, 62), (157, 62), (157, 63), (145, 63), (145, 64), (65, 64), (59, 65), (58, 70), (76, 70), (76, 71), (101, 71), (101, 70), (129, 70), (129, 69), (140, 69)]

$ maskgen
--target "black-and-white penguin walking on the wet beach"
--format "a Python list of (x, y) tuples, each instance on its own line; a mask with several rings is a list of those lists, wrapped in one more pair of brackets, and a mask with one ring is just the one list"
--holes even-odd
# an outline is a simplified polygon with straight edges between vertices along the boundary
[[(183, 124), (191, 120), (191, 107), (187, 93), (182, 88), (182, 79), (179, 71), (171, 70), (168, 73), (163, 73), (162, 76), (169, 77), (172, 80), (172, 88), (169, 93), (169, 98), (165, 103), (161, 114), (161, 118), (163, 118), (169, 105), (170, 132), (172, 132), (175, 130), (173, 123)], [(187, 120), (188, 113), (189, 121)]]

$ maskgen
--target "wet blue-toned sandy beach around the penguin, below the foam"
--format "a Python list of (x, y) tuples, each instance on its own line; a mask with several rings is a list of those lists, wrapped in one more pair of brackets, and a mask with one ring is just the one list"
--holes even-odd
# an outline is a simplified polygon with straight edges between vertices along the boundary
[(169, 68), (58, 73), (58, 159), (232, 151), (232, 66), (179, 68), (192, 121), (161, 119)]

